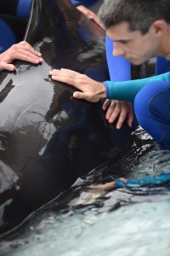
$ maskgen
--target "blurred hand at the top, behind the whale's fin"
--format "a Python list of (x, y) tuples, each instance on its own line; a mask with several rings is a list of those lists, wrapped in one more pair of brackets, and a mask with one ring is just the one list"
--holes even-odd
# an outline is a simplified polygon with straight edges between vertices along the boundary
[(86, 8), (85, 6), (83, 5), (78, 5), (77, 6), (77, 9), (79, 11), (82, 12), (83, 15), (85, 15), (89, 20), (92, 20), (94, 21), (94, 23), (99, 26), (100, 28), (102, 28), (102, 30), (105, 31), (105, 28), (104, 26), (101, 24), (99, 18), (98, 18), (98, 15), (94, 14), (93, 11), (91, 11), (90, 9)]

